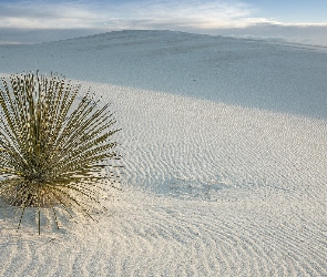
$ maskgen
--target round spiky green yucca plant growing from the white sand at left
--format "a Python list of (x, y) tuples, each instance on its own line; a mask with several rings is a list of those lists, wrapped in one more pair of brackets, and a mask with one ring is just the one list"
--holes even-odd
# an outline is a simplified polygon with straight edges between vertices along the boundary
[[(0, 82), (0, 196), (21, 211), (50, 208), (92, 216), (101, 193), (116, 182), (111, 137), (115, 120), (90, 89), (81, 94), (58, 74), (23, 73)], [(109, 168), (109, 170), (108, 170)]]

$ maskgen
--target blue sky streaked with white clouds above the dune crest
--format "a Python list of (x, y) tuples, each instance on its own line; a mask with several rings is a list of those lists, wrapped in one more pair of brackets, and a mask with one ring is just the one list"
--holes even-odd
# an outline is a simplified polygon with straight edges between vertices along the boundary
[(327, 47), (327, 0), (0, 0), (0, 43), (172, 30)]

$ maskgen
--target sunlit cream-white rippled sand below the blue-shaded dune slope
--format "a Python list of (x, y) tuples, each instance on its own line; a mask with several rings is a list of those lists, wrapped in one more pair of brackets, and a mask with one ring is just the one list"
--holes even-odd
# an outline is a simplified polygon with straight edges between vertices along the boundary
[(327, 276), (326, 121), (92, 85), (117, 110), (124, 191), (40, 237), (2, 208), (0, 276)]

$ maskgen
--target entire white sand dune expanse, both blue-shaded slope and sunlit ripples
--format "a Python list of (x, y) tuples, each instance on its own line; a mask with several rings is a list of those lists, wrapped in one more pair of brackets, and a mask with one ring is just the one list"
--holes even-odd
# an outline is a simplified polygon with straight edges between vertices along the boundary
[(125, 170), (99, 224), (0, 208), (0, 276), (327, 276), (327, 51), (168, 31), (0, 45), (112, 103)]

